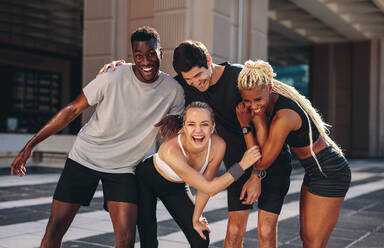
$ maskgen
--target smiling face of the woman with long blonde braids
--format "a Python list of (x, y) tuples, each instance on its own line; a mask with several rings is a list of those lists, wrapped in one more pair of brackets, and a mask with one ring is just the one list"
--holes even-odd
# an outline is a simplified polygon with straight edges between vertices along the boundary
[(262, 86), (250, 90), (240, 90), (245, 106), (254, 114), (263, 114), (268, 109), (272, 87)]

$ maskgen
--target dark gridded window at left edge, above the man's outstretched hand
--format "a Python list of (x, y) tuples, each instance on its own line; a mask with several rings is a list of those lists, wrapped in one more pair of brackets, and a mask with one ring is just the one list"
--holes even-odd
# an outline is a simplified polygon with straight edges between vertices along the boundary
[(1, 132), (35, 133), (61, 107), (61, 74), (0, 66), (5, 76), (1, 93)]

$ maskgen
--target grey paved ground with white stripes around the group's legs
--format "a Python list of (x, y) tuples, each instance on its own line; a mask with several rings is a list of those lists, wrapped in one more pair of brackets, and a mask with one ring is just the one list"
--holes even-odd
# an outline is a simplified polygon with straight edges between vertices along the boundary
[[(327, 247), (384, 247), (384, 160), (351, 160), (352, 185)], [(30, 167), (25, 178), (10, 177), (0, 169), (0, 247), (37, 247), (44, 233), (57, 169)], [(293, 171), (289, 193), (279, 217), (279, 247), (301, 247), (299, 191), (303, 170)], [(82, 207), (64, 237), (63, 247), (113, 247), (108, 214), (102, 210), (101, 188), (89, 207)], [(181, 206), (182, 207), (182, 206)], [(210, 247), (223, 247), (227, 210), (226, 193), (210, 199), (204, 216), (210, 222)], [(189, 247), (184, 235), (158, 204), (160, 248)], [(257, 208), (251, 212), (244, 247), (257, 247)], [(139, 243), (136, 244), (139, 247)]]

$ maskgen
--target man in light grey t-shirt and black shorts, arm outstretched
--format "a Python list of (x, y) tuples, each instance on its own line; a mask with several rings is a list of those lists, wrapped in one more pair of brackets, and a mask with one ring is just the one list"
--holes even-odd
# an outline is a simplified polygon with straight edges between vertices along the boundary
[(38, 143), (96, 105), (69, 153), (41, 247), (60, 247), (79, 207), (89, 205), (100, 180), (116, 247), (134, 247), (138, 197), (134, 169), (155, 140), (159, 129), (155, 124), (181, 114), (184, 94), (171, 76), (159, 71), (162, 49), (155, 29), (137, 29), (131, 45), (134, 64), (97, 76), (28, 141), (12, 163), (11, 174), (25, 175), (25, 163)]

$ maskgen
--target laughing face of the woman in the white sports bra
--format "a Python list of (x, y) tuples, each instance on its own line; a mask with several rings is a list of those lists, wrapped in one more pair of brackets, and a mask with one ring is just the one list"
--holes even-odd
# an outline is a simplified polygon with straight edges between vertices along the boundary
[(184, 117), (183, 130), (187, 143), (193, 148), (202, 148), (215, 129), (211, 113), (207, 109), (192, 107)]

